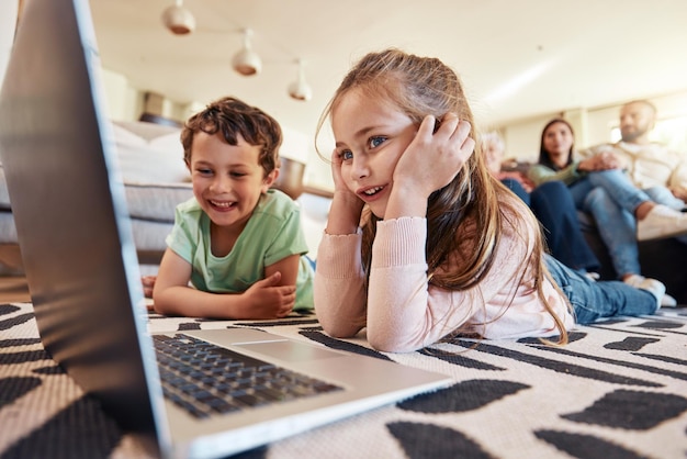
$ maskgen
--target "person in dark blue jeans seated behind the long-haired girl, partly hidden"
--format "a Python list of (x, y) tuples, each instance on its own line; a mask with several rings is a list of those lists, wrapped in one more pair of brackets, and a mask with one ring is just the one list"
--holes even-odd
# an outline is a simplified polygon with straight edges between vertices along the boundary
[(543, 226), (551, 254), (568, 268), (597, 278), (594, 271), (599, 268), (599, 261), (582, 234), (575, 203), (566, 186), (550, 181), (534, 188), (522, 172), (504, 171), (505, 145), (495, 132), (482, 135), (482, 149), (489, 172), (525, 201)]

